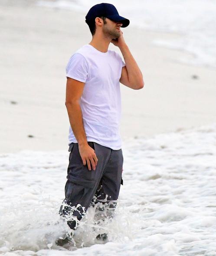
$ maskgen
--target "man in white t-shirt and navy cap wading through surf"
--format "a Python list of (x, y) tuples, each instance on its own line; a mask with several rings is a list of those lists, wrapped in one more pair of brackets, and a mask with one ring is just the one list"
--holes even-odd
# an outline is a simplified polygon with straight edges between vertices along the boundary
[[(65, 199), (59, 214), (72, 231), (90, 205), (100, 217), (100, 212), (105, 211), (105, 216), (113, 216), (123, 184), (119, 82), (132, 89), (144, 87), (142, 73), (120, 29), (130, 21), (119, 16), (109, 3), (93, 6), (85, 19), (92, 40), (70, 57), (66, 67), (70, 155)], [(110, 42), (119, 47), (125, 63), (117, 52), (108, 50)], [(70, 238), (67, 235), (56, 244), (63, 245)], [(107, 234), (97, 236), (106, 238)]]

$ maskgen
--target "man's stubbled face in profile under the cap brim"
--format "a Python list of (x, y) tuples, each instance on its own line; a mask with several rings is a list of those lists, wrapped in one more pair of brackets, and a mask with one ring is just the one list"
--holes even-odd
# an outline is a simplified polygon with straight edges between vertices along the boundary
[(122, 23), (120, 21), (110, 20), (108, 18), (105, 19), (106, 23), (104, 24), (103, 33), (106, 36), (111, 37), (111, 39), (115, 39), (121, 36), (120, 27)]

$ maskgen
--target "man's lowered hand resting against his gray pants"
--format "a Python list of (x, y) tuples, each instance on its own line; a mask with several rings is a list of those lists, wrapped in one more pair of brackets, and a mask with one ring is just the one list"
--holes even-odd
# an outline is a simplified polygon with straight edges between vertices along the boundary
[[(79, 154), (82, 158), (83, 165), (88, 165), (88, 170), (95, 170), (96, 165), (98, 163), (98, 158), (95, 155), (95, 150), (91, 148), (88, 144), (79, 145)], [(92, 168), (91, 168), (92, 164)]]

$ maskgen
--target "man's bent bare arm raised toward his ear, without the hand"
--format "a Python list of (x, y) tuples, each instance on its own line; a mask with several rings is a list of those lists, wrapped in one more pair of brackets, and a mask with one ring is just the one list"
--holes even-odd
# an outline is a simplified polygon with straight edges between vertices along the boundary
[(120, 83), (124, 84), (134, 90), (138, 90), (144, 87), (143, 75), (138, 67), (128, 45), (122, 44), (119, 46), (121, 53), (124, 57), (125, 67), (122, 67)]

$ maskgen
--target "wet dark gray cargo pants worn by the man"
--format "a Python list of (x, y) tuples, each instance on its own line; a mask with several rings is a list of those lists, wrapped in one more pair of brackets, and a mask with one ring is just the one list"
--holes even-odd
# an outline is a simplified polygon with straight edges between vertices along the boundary
[(78, 143), (72, 142), (69, 145), (65, 199), (59, 214), (63, 218), (72, 216), (72, 220), (67, 220), (71, 229), (77, 228), (90, 205), (96, 206), (98, 212), (106, 209), (106, 216), (113, 217), (120, 186), (123, 185), (122, 150), (113, 150), (93, 141), (88, 141), (88, 145), (95, 150), (98, 158), (95, 170), (91, 171), (88, 170), (87, 163), (83, 165)]

